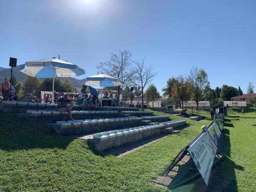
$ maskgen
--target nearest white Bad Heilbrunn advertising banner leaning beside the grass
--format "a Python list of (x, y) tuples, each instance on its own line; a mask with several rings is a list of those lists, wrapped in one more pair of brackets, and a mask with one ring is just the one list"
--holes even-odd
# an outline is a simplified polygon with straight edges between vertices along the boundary
[(210, 172), (217, 152), (217, 147), (208, 132), (202, 134), (188, 149), (195, 165), (197, 166), (204, 182), (208, 186)]

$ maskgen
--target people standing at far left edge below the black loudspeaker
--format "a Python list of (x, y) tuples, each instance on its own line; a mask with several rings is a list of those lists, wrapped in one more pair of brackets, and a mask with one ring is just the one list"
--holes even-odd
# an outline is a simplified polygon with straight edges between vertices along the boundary
[(4, 82), (2, 82), (0, 86), (0, 91), (2, 91), (3, 101), (17, 101), (15, 88), (11, 86), (8, 78), (5, 78)]

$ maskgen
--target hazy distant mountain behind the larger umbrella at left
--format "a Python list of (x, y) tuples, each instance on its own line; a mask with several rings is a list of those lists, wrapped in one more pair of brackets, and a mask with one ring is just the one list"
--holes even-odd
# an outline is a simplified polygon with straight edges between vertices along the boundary
[[(11, 68), (3, 68), (0, 67), (0, 82), (3, 82), (6, 77), (10, 79), (11, 77)], [(17, 67), (13, 67), (13, 75), (16, 77), (17, 81), (22, 81), (24, 82), (26, 78), (26, 74), (22, 73), (19, 71), (20, 65), (17, 65)], [(61, 77), (61, 80), (63, 81), (65, 78)], [(83, 82), (81, 82), (79, 79), (75, 79), (73, 77), (68, 77), (70, 82), (73, 84), (74, 87), (82, 87)], [(41, 79), (42, 81), (44, 79)]]

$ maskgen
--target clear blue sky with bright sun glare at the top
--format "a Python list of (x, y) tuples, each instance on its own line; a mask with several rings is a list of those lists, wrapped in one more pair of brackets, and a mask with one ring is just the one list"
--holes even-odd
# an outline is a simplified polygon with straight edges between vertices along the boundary
[(195, 65), (212, 88), (249, 81), (256, 86), (255, 0), (2, 0), (0, 67), (52, 56), (96, 74), (110, 52), (129, 49), (159, 75), (161, 91), (172, 76)]

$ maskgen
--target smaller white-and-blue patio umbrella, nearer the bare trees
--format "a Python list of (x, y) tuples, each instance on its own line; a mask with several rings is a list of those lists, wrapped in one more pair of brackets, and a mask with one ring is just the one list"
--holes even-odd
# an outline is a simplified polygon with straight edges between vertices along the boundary
[[(108, 76), (103, 73), (100, 73), (95, 76), (87, 77), (85, 79), (82, 79), (82, 81), (85, 81), (85, 84), (89, 86), (101, 87), (101, 99), (102, 99), (102, 87), (115, 87), (115, 86), (122, 85), (120, 79), (117, 79), (112, 76)], [(102, 106), (102, 102), (101, 102), (101, 106)]]

